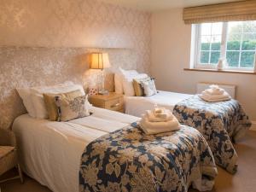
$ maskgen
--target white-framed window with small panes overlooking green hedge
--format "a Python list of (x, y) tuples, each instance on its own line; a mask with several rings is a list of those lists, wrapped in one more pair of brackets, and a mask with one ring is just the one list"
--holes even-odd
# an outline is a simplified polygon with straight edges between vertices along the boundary
[(216, 68), (226, 60), (226, 69), (253, 71), (256, 53), (256, 20), (195, 25), (194, 67)]

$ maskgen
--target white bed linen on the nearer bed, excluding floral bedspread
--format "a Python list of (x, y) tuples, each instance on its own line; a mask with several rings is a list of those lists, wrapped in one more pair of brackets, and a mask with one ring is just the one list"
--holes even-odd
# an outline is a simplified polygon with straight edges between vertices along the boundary
[(123, 113), (91, 108), (90, 117), (68, 122), (33, 119), (28, 114), (15, 119), (22, 169), (54, 192), (79, 192), (79, 165), (84, 148), (108, 132), (139, 120)]

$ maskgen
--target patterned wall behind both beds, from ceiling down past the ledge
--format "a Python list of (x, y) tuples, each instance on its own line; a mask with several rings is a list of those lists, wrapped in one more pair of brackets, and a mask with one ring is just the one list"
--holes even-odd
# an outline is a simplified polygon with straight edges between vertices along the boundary
[(146, 12), (97, 0), (1, 0), (0, 32), (0, 128), (9, 128), (26, 112), (17, 87), (94, 82), (96, 72), (86, 63), (90, 51), (109, 53), (109, 90), (111, 73), (119, 66), (149, 71)]

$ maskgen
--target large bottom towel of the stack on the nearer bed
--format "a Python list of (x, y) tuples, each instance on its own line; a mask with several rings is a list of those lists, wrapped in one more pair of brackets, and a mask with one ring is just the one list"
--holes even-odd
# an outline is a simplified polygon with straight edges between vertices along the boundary
[(180, 129), (180, 124), (175, 117), (166, 122), (150, 122), (147, 116), (143, 116), (140, 125), (147, 135), (177, 131)]

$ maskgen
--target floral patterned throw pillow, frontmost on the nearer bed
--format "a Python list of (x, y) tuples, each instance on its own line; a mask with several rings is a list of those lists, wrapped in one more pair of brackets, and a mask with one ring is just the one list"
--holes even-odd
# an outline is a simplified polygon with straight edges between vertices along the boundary
[(58, 121), (68, 121), (90, 115), (88, 95), (79, 96), (68, 100), (62, 96), (55, 96), (55, 103), (58, 107)]

